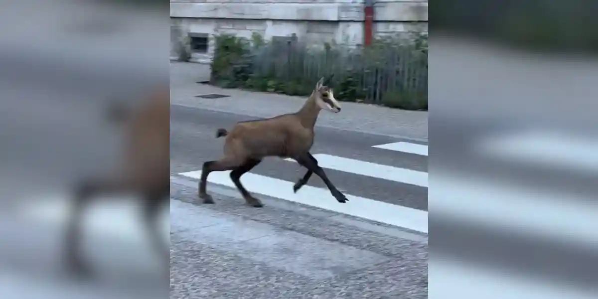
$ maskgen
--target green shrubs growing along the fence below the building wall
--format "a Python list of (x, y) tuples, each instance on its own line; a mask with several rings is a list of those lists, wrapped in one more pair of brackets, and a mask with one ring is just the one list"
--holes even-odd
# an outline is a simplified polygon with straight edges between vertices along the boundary
[(308, 96), (324, 75), (338, 100), (401, 109), (428, 107), (428, 37), (377, 39), (370, 47), (321, 47), (215, 35), (210, 84), (225, 88)]

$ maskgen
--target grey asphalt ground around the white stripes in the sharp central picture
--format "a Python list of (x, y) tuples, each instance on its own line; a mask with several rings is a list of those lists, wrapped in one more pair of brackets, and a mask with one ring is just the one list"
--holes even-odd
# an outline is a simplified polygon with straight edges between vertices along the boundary
[[(375, 216), (370, 221), (260, 193), (254, 195), (265, 207), (251, 208), (234, 188), (218, 184), (208, 184), (216, 204), (200, 203), (197, 179), (180, 173), (219, 158), (223, 139), (215, 138), (216, 129), (250, 119), (171, 108), (170, 298), (427, 298), (424, 233), (381, 224)], [(407, 140), (318, 127), (312, 154), (427, 172), (425, 155), (373, 148), (401, 141)], [(294, 182), (304, 171), (297, 163), (270, 158), (250, 173)], [(325, 171), (351, 196), (428, 209), (426, 187)], [(250, 192), (264, 190), (245, 185)], [(325, 190), (316, 176), (308, 185)], [(321, 197), (334, 201), (327, 194)]]

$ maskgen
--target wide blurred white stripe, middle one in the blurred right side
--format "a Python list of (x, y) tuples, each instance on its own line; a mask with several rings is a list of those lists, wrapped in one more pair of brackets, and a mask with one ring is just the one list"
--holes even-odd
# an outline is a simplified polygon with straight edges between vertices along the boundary
[(572, 193), (458, 179), (454, 173), (439, 173), (429, 190), (436, 219), (463, 219), (598, 248), (598, 209), (591, 202)]

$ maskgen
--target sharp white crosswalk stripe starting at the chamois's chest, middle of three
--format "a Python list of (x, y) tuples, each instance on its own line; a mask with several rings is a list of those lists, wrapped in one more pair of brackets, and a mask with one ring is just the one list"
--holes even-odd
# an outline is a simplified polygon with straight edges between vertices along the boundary
[(327, 169), (355, 173), (356, 175), (371, 176), (372, 178), (388, 179), (404, 184), (428, 187), (428, 173), (416, 170), (392, 167), (367, 161), (337, 157), (335, 155), (315, 154), (318, 165)]

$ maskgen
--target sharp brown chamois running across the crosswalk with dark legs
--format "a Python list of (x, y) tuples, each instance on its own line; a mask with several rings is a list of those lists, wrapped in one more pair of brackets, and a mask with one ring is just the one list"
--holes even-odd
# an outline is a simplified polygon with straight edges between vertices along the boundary
[[(308, 97), (303, 107), (292, 114), (283, 114), (262, 120), (240, 121), (233, 129), (218, 129), (216, 138), (226, 136), (224, 142), (224, 157), (221, 160), (206, 161), (202, 167), (202, 177), (199, 181), (198, 195), (203, 203), (214, 203), (212, 196), (206, 193), (208, 175), (213, 171), (232, 170), (230, 178), (239, 189), (248, 205), (260, 208), (260, 200), (251, 196), (243, 187), (240, 178), (249, 172), (265, 157), (292, 158), (301, 166), (307, 168), (307, 173), (297, 184), (303, 182), (315, 173), (328, 187), (328, 190), (340, 203), (347, 202), (347, 197), (332, 184), (322, 167), (318, 166), (316, 158), (310, 154), (314, 140), (314, 126), (319, 112), (324, 109), (329, 112), (340, 112), (340, 104), (334, 99), (334, 92), (325, 84), (322, 77), (316, 83), (315, 89)], [(295, 185), (297, 185), (295, 184)], [(298, 190), (298, 188), (294, 188)]]

